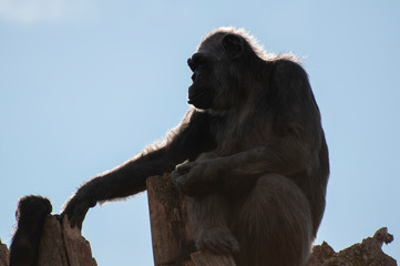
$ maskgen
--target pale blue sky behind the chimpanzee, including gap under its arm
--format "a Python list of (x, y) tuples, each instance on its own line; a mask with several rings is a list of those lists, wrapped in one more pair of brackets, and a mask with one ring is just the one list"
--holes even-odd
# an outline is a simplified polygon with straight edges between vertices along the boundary
[[(161, 140), (183, 117), (186, 59), (220, 25), (294, 52), (330, 151), (317, 244), (340, 250), (381, 226), (400, 259), (399, 1), (0, 0), (0, 237), (17, 201), (74, 190)], [(153, 265), (146, 194), (91, 209), (99, 265)]]

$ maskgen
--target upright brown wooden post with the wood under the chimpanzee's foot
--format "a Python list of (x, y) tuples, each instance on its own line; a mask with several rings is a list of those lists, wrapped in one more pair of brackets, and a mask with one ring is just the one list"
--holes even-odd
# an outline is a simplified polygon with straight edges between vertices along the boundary
[(186, 197), (178, 193), (170, 174), (148, 177), (146, 184), (155, 266), (235, 266), (232, 256), (195, 253)]

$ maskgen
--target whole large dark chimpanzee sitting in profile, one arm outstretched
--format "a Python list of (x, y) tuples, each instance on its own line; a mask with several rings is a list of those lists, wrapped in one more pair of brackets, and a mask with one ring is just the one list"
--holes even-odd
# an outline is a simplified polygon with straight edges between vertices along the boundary
[(173, 171), (189, 196), (198, 248), (232, 252), (239, 266), (302, 265), (329, 175), (307, 73), (294, 57), (267, 54), (232, 28), (205, 37), (188, 64), (196, 109), (163, 145), (85, 183), (64, 214), (81, 227), (98, 202), (144, 191), (147, 176)]

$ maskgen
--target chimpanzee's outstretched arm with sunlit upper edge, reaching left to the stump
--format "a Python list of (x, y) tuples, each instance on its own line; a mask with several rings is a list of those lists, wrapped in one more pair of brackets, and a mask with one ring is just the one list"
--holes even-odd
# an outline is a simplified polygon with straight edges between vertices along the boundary
[(209, 115), (189, 110), (183, 122), (173, 130), (162, 145), (143, 151), (140, 155), (104, 172), (82, 185), (68, 202), (66, 214), (71, 226), (80, 228), (90, 207), (98, 202), (126, 197), (146, 188), (146, 177), (171, 172), (185, 160), (195, 160), (213, 147)]

